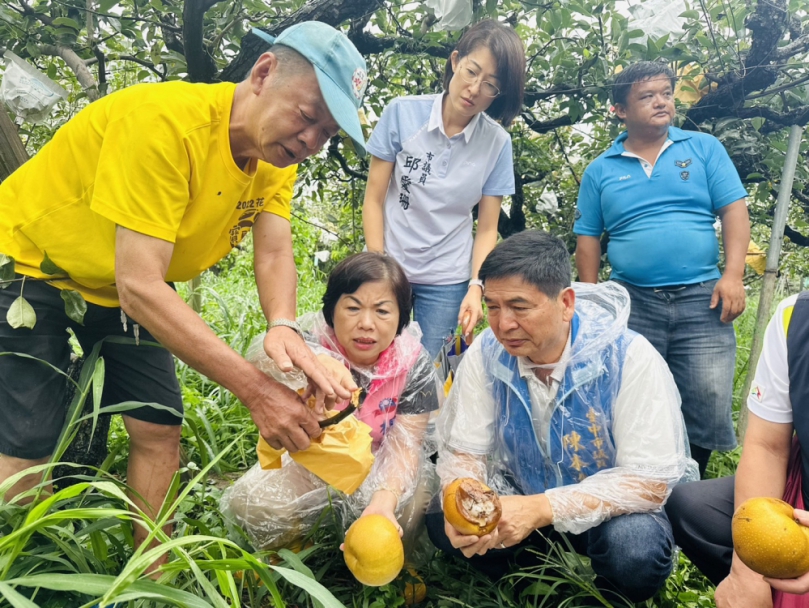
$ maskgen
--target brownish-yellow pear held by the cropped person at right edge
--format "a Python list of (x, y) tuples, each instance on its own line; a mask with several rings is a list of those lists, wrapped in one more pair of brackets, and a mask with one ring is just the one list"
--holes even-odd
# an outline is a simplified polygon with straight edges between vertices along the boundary
[(733, 548), (751, 570), (769, 578), (797, 578), (809, 572), (809, 528), (795, 521), (793, 508), (777, 498), (746, 500), (733, 514)]

